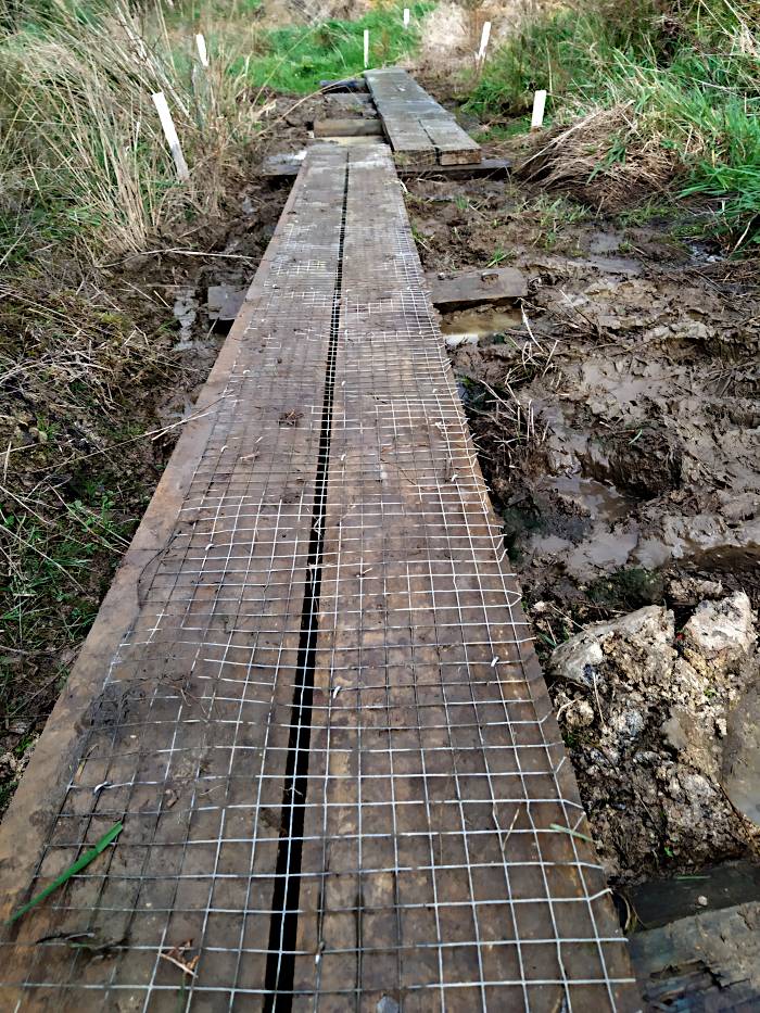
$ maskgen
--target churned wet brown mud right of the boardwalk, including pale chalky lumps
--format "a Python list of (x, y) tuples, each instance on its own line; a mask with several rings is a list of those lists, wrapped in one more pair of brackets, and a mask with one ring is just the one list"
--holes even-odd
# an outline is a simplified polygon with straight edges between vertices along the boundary
[[(443, 327), (611, 878), (753, 853), (731, 771), (757, 772), (757, 264), (655, 201), (599, 217), (517, 179), (407, 187), (426, 268), (529, 281)], [(561, 645), (604, 621), (570, 641), (573, 678)]]

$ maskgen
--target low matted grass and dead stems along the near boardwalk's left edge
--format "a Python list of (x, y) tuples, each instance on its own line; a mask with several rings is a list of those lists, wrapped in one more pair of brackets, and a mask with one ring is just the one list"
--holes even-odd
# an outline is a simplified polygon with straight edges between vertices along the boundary
[(153, 392), (177, 376), (172, 337), (116, 311), (126, 293), (103, 291), (106, 279), (77, 274), (63, 252), (5, 276), (0, 814), (157, 480), (161, 452), (138, 438), (154, 427)]

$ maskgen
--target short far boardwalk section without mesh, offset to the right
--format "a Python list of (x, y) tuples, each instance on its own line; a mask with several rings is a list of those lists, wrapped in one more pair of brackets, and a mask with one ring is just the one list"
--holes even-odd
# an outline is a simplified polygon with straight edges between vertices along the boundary
[(481, 160), (477, 144), (406, 71), (365, 71), (397, 165), (460, 165)]

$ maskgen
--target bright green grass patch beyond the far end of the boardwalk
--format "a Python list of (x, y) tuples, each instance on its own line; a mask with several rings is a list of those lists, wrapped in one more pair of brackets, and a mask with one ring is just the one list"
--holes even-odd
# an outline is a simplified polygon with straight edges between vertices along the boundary
[(233, 71), (244, 66), (249, 80), (257, 87), (308, 94), (319, 88), (320, 80), (362, 73), (365, 28), (369, 29), (370, 66), (395, 63), (415, 50), (419, 22), (433, 4), (410, 4), (408, 31), (403, 28), (403, 8), (404, 4), (378, 8), (357, 21), (333, 20), (317, 26), (270, 30), (261, 40), (262, 52), (239, 62)]

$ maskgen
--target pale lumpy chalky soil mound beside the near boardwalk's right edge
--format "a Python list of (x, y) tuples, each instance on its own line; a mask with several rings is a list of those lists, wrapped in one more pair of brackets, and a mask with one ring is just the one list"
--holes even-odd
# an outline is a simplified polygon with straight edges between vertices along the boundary
[(744, 592), (705, 600), (676, 633), (649, 605), (592, 623), (547, 664), (610, 876), (742, 854), (760, 839), (757, 750), (742, 718), (760, 675)]

